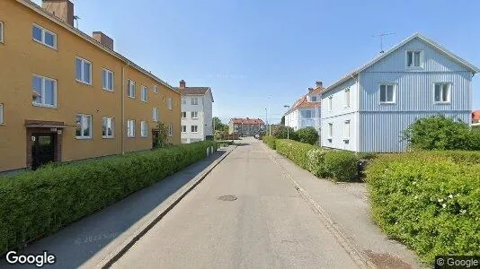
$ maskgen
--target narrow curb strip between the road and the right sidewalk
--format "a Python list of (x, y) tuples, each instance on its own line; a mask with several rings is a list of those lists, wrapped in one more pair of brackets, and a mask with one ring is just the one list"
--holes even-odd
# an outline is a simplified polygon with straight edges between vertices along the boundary
[[(266, 152), (269, 152), (267, 150), (270, 149), (266, 148), (265, 145), (262, 145), (262, 147), (264, 150), (266, 150)], [(309, 195), (308, 192), (303, 187), (301, 187), (295, 179), (290, 176), (289, 172), (287, 172), (280, 165), (280, 163), (275, 160), (274, 156), (270, 154), (269, 157), (271, 158), (271, 161), (275, 162), (275, 164), (280, 167), (283, 176), (289, 179), (290, 183), (293, 185), (293, 187), (297, 189), (298, 193), (302, 195), (304, 199), (307, 200), (307, 202), (315, 208), (316, 213), (319, 214), (320, 219), (324, 223), (325, 227), (333, 234), (333, 237), (337, 239), (337, 242), (340, 244), (340, 246), (342, 246), (343, 249), (345, 249), (348, 255), (351, 256), (355, 264), (359, 265), (360, 268), (377, 268), (377, 265), (369, 261), (369, 258), (367, 258), (361, 251), (357, 249), (357, 247), (355, 247), (354, 244), (351, 243), (351, 241), (345, 236), (345, 234), (338, 227), (338, 225), (328, 216), (324, 208), (322, 208), (320, 204), (316, 203), (312, 196)]]

